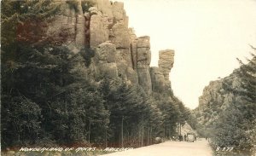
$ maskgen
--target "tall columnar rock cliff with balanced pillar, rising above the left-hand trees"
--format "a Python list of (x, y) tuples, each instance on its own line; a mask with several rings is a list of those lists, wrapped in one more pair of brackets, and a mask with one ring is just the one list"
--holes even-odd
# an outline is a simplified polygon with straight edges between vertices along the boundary
[(150, 67), (150, 38), (137, 37), (128, 27), (124, 3), (79, 0), (60, 5), (63, 14), (48, 23), (46, 37), (74, 53), (84, 47), (93, 49), (95, 54), (88, 67), (92, 77), (121, 78), (128, 84), (141, 85), (148, 94), (172, 90), (169, 72), (174, 51), (160, 50), (159, 67)]

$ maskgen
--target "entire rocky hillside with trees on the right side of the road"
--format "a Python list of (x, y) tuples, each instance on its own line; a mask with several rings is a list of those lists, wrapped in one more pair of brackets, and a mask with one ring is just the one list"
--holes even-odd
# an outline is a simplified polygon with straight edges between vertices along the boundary
[(195, 110), (199, 119), (197, 129), (207, 131), (202, 131), (201, 135), (211, 137), (214, 150), (233, 147), (236, 153), (255, 153), (255, 52), (247, 64), (239, 62), (240, 68), (229, 77), (216, 81), (220, 87), (209, 90), (212, 96)]

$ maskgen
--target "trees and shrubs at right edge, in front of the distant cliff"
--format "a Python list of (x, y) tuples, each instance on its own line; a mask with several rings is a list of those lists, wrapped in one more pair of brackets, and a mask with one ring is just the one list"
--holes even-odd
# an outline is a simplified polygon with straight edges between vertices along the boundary
[(235, 87), (224, 84), (226, 91), (232, 92), (234, 98), (212, 127), (212, 146), (251, 151), (255, 144), (252, 138), (256, 118), (256, 57), (253, 55), (248, 64), (240, 63), (241, 67), (233, 73), (239, 78), (240, 84)]

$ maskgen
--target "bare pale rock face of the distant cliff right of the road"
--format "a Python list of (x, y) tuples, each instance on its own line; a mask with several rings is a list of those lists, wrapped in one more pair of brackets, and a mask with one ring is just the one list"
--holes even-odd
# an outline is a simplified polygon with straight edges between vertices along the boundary
[(241, 79), (236, 72), (229, 77), (210, 82), (199, 97), (199, 106), (195, 108), (199, 122), (204, 125), (212, 124), (232, 102), (241, 101), (241, 97), (231, 91), (240, 87)]

